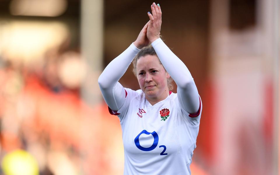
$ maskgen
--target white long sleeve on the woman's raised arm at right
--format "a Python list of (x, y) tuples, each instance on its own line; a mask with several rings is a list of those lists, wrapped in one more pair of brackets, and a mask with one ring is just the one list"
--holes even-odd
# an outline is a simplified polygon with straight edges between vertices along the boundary
[(188, 113), (196, 113), (200, 106), (195, 82), (185, 64), (158, 38), (152, 43), (165, 70), (177, 84), (180, 106)]

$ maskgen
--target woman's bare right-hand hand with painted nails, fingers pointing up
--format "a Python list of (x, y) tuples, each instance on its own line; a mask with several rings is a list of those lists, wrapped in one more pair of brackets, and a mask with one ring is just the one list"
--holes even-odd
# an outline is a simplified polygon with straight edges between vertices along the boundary
[(147, 29), (147, 38), (152, 43), (156, 39), (160, 38), (160, 28), (161, 28), (161, 9), (159, 4), (156, 5), (153, 3), (151, 5), (152, 14), (148, 12), (148, 16), (150, 18), (150, 23)]

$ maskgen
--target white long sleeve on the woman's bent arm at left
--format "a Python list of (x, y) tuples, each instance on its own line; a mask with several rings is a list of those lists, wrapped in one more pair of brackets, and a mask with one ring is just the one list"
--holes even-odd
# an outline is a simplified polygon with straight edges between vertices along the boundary
[(98, 78), (99, 88), (109, 108), (118, 111), (125, 102), (125, 89), (118, 82), (140, 50), (132, 43), (112, 60)]

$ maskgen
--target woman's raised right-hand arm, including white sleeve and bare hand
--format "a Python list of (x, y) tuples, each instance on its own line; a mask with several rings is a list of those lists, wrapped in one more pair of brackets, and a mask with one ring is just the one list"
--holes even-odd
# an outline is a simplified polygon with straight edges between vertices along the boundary
[(185, 64), (160, 39), (161, 15), (159, 4), (153, 3), (152, 14), (148, 13), (150, 23), (147, 37), (152, 43), (163, 67), (177, 84), (177, 94), (180, 106), (188, 113), (197, 113), (199, 109), (199, 95), (190, 71)]

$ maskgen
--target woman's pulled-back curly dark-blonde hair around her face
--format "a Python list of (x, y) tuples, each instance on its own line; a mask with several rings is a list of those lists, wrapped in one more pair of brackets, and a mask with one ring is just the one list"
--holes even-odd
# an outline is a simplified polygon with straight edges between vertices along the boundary
[[(133, 69), (132, 69), (132, 72), (133, 74), (136, 76), (137, 78), (137, 71), (136, 71), (136, 64), (137, 64), (137, 61), (139, 60), (140, 57), (144, 57), (146, 55), (156, 55), (157, 56), (157, 53), (155, 52), (155, 49), (152, 47), (152, 45), (149, 45), (149, 46), (146, 46), (146, 47), (143, 47), (140, 52), (137, 53), (137, 55), (134, 57), (133, 61), (132, 61), (132, 64), (133, 64)], [(160, 59), (158, 59), (158, 61), (160, 62)], [(162, 63), (160, 62), (160, 64), (162, 65)], [(164, 68), (165, 70), (165, 68)], [(165, 70), (166, 71), (166, 70)], [(169, 90), (173, 90), (173, 85), (172, 85), (172, 81), (173, 79), (170, 77), (170, 78), (167, 78), (167, 86), (168, 86), (168, 89)]]

